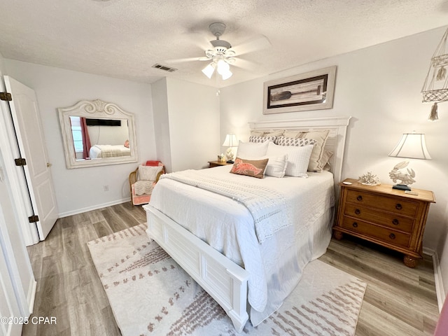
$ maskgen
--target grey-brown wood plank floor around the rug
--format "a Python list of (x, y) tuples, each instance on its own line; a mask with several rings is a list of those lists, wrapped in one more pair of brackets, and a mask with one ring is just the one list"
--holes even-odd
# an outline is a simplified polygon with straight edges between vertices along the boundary
[[(61, 218), (45, 241), (28, 251), (37, 281), (34, 314), (56, 325), (24, 325), (22, 335), (120, 335), (87, 241), (146, 222), (130, 202)], [(438, 309), (433, 262), (410, 269), (402, 255), (344, 237), (321, 260), (366, 281), (356, 336), (433, 335)]]

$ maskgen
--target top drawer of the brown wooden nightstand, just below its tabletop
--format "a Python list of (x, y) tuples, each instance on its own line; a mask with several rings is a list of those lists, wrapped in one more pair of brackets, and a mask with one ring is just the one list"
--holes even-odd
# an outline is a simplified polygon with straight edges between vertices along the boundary
[(402, 216), (414, 216), (419, 209), (418, 202), (400, 200), (397, 197), (386, 197), (379, 194), (364, 193), (359, 190), (347, 190), (346, 202), (363, 204), (379, 210), (391, 211)]

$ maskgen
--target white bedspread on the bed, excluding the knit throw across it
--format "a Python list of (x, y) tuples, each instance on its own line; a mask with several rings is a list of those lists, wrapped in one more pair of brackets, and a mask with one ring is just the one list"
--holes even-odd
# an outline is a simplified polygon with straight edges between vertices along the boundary
[[(309, 178), (266, 176), (254, 179), (230, 174), (231, 166), (202, 169), (204, 176), (255, 183), (282, 193), (295, 225), (286, 226), (260, 244), (251, 213), (230, 197), (172, 179), (160, 179), (149, 206), (162, 211), (249, 273), (251, 322), (258, 325), (278, 309), (295, 288), (307, 262), (330, 242), (334, 182), (329, 172)], [(209, 225), (203, 225), (209, 223)]]

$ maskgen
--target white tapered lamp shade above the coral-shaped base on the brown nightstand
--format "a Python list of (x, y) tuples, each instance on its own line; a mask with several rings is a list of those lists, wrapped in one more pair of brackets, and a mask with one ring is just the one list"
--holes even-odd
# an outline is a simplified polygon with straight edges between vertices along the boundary
[(425, 134), (422, 133), (403, 134), (397, 146), (393, 148), (388, 156), (431, 160), (428, 148), (426, 148)]

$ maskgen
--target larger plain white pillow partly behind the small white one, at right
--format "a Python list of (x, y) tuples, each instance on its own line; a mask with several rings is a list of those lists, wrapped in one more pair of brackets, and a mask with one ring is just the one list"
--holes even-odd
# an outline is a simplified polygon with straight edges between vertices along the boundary
[(266, 155), (287, 155), (285, 175), (296, 177), (308, 177), (307, 170), (309, 158), (313, 151), (313, 145), (307, 146), (279, 146), (272, 142), (268, 143)]

